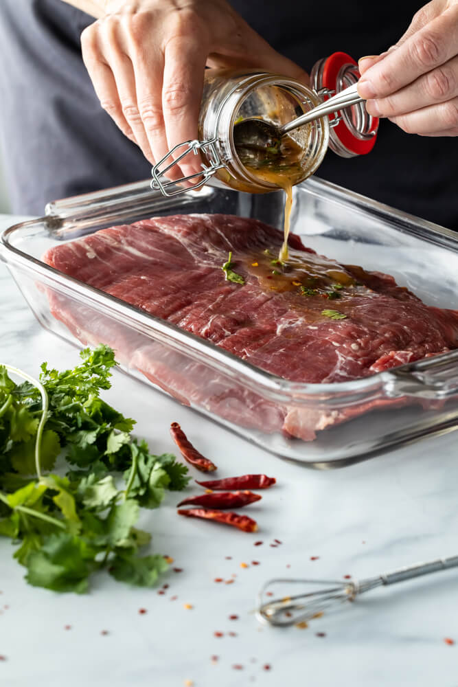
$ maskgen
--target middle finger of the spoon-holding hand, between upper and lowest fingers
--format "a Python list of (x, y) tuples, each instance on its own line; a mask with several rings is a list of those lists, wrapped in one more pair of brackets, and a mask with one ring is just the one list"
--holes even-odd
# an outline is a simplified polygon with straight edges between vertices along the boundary
[(458, 56), (445, 65), (417, 78), (409, 86), (387, 98), (367, 100), (366, 109), (373, 117), (396, 117), (424, 106), (446, 102), (458, 95)]

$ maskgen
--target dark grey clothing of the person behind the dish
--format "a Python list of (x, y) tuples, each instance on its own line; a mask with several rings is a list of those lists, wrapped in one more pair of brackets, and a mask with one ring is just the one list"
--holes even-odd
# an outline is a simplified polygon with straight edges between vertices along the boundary
[[(423, 3), (233, 0), (279, 52), (310, 71), (342, 50), (355, 59), (395, 43)], [(15, 212), (51, 199), (146, 179), (150, 164), (100, 108), (81, 59), (93, 19), (61, 0), (1, 0), (0, 141)], [(455, 151), (452, 154), (452, 151)], [(408, 135), (382, 120), (374, 150), (329, 151), (317, 176), (458, 229), (457, 139)]]

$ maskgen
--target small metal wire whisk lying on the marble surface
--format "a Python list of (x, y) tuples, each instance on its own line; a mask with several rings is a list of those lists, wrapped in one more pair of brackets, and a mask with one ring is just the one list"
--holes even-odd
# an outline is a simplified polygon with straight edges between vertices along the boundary
[(359, 582), (276, 578), (268, 581), (258, 594), (256, 616), (264, 624), (288, 627), (319, 618), (327, 609), (345, 601), (354, 601), (359, 594), (375, 587), (393, 585), (457, 566), (458, 556), (450, 556), (429, 563), (415, 563)]

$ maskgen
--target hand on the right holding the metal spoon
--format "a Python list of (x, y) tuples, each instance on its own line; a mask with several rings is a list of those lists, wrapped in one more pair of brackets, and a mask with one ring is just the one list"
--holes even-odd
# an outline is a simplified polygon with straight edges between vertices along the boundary
[(407, 133), (458, 135), (458, 0), (433, 0), (387, 52), (362, 58), (358, 93)]

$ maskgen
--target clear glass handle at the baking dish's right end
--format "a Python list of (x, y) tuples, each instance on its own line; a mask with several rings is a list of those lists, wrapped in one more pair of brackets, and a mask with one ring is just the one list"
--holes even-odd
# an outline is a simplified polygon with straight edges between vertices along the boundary
[(458, 398), (458, 350), (382, 373), (387, 396)]

